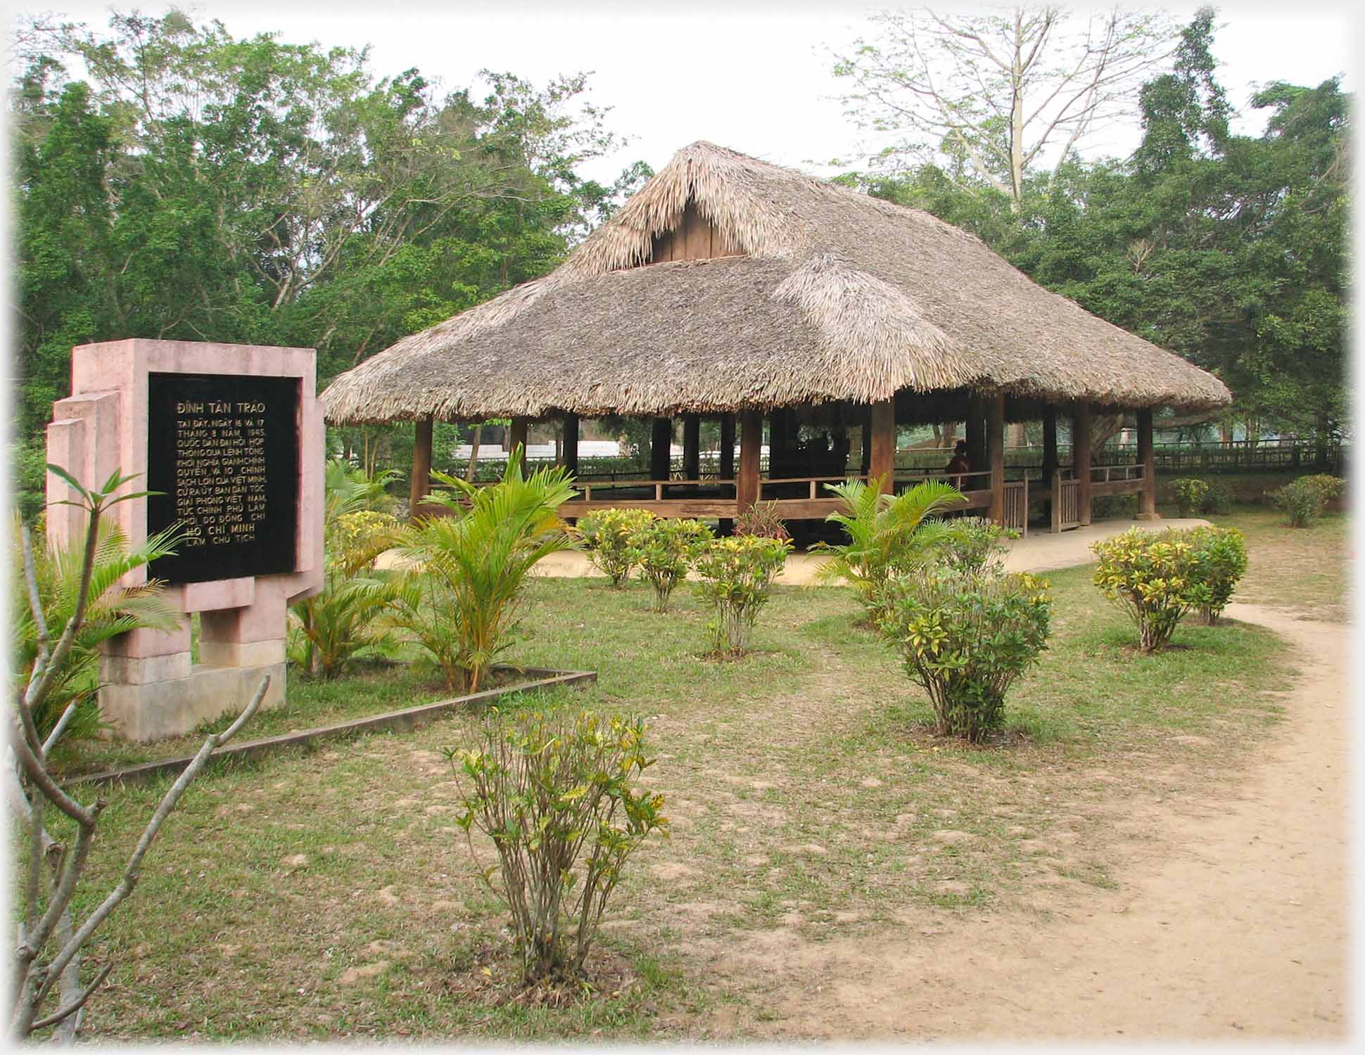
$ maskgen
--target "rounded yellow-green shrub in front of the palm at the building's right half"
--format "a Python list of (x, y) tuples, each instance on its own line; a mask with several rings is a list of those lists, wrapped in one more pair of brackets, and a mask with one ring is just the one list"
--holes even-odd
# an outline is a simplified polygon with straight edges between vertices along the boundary
[(998, 729), (1005, 693), (1047, 648), (1047, 581), (946, 566), (882, 588), (878, 631), (930, 697), (935, 732), (979, 742)]

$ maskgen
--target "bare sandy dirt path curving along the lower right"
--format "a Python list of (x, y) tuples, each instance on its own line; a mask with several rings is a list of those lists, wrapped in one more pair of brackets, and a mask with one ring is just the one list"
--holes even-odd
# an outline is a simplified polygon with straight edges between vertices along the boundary
[(763, 985), (782, 996), (733, 1025), (773, 1040), (1346, 1037), (1347, 631), (1228, 614), (1301, 650), (1286, 721), (1237, 790), (1156, 808), (1160, 838), (1127, 853), (1118, 890), (1059, 894), (1048, 919), (925, 910), (861, 938), (755, 934), (715, 970), (782, 976)]

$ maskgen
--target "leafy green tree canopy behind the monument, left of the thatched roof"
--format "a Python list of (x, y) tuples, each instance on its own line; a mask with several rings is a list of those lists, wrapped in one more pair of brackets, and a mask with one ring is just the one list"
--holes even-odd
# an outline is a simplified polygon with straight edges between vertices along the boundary
[(617, 146), (581, 74), (440, 97), (364, 49), (175, 11), (30, 19), (12, 49), (25, 435), (81, 343), (315, 347), (326, 381), (550, 270), (648, 175), (576, 175)]

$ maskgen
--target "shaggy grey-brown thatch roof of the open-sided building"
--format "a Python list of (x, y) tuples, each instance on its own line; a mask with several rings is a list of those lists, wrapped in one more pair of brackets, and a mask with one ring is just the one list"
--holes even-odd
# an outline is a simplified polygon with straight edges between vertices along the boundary
[[(688, 205), (747, 255), (648, 263)], [(328, 419), (676, 415), (1003, 389), (1203, 409), (1218, 378), (928, 213), (693, 143), (557, 270), (405, 337)]]

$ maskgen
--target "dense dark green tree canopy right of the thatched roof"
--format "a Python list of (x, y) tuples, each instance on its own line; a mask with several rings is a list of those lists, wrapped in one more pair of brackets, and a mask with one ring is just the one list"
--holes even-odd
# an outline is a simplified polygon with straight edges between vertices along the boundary
[(1351, 98), (1336, 78), (1265, 78), (1252, 98), (1263, 132), (1234, 135), (1212, 46), (1205, 8), (1171, 72), (1143, 86), (1134, 154), (1031, 172), (1017, 213), (988, 182), (935, 165), (845, 182), (972, 231), (1048, 289), (1216, 373), (1253, 424), (1336, 434)]

